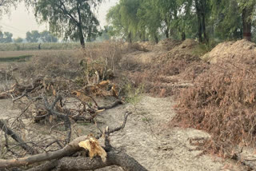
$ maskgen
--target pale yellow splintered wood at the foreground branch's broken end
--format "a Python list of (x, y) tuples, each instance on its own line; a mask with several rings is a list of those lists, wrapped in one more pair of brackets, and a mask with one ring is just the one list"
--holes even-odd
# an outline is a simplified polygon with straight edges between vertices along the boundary
[(89, 140), (81, 141), (78, 145), (84, 149), (89, 150), (90, 157), (100, 156), (103, 162), (106, 162), (106, 151), (99, 145), (98, 140), (95, 137), (90, 137)]

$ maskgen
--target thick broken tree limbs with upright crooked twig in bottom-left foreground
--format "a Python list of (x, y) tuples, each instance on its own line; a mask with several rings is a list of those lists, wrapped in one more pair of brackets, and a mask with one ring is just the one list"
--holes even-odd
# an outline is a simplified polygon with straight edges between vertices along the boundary
[[(23, 170), (18, 168), (22, 166), (32, 165), (35, 163), (41, 163), (42, 161), (47, 161), (46, 163), (35, 166), (34, 168), (28, 169), (28, 170), (30, 171), (31, 170), (33, 171), (51, 170), (51, 169), (91, 170), (91, 169), (103, 168), (110, 165), (118, 165), (122, 167), (122, 169), (124, 170), (134, 170), (134, 171), (145, 170), (146, 171), (146, 169), (142, 165), (140, 165), (138, 161), (135, 161), (133, 157), (130, 157), (128, 154), (122, 151), (118, 151), (114, 149), (110, 145), (110, 141), (109, 141), (110, 133), (114, 133), (115, 131), (123, 129), (124, 126), (126, 125), (126, 120), (129, 115), (130, 113), (126, 113), (123, 124), (118, 128), (110, 130), (108, 129), (108, 127), (106, 127), (106, 130), (104, 131), (103, 135), (98, 137), (91, 137), (91, 136), (78, 137), (74, 139), (74, 141), (71, 141), (63, 149), (59, 149), (54, 152), (40, 153), (40, 154), (32, 155), (29, 157), (22, 157), (22, 158), (10, 159), (10, 160), (0, 159), (0, 169), (16, 168), (16, 170)], [(106, 159), (102, 160), (100, 157), (95, 157), (95, 154), (98, 155), (98, 153), (96, 153), (95, 151), (94, 152), (90, 151), (90, 153), (94, 153), (94, 155), (90, 156), (90, 157), (94, 157), (93, 159), (90, 159), (89, 157), (74, 157), (74, 156), (72, 157), (74, 153), (84, 150), (80, 147), (81, 142), (90, 141), (90, 143), (92, 143), (91, 145), (94, 145), (94, 143), (97, 142), (96, 144), (98, 145), (97, 139), (99, 137), (105, 138), (106, 147), (104, 149), (100, 147), (100, 150), (101, 151), (106, 150), (106, 154), (104, 154)], [(94, 141), (91, 141), (92, 138)], [(89, 150), (96, 150), (96, 149), (98, 148), (91, 147)]]

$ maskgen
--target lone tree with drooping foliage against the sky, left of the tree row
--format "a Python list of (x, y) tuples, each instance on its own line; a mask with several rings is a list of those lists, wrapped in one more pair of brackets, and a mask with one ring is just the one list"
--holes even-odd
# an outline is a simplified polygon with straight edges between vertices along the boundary
[(39, 22), (48, 22), (50, 32), (61, 38), (79, 40), (85, 47), (88, 41), (98, 35), (98, 19), (94, 8), (102, 0), (26, 0), (34, 6)]

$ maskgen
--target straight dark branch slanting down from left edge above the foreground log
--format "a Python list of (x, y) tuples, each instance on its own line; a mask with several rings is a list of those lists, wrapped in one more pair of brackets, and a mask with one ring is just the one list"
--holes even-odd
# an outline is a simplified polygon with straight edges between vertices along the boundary
[(38, 151), (36, 151), (35, 149), (33, 149), (32, 147), (27, 145), (26, 142), (23, 141), (21, 137), (19, 137), (16, 133), (14, 133), (14, 131), (12, 131), (10, 128), (8, 128), (5, 121), (3, 121), (2, 119), (0, 120), (0, 129), (2, 129), (7, 135), (9, 135), (15, 141), (17, 141), (19, 143), (19, 145), (22, 147), (22, 149), (26, 150), (26, 152), (28, 152), (30, 154), (38, 153)]

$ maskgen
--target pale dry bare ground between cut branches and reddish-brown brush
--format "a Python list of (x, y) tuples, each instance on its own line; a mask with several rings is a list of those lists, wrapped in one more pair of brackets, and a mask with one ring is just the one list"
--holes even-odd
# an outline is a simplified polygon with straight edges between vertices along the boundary
[[(222, 158), (201, 155), (202, 151), (190, 145), (190, 138), (209, 137), (196, 129), (165, 129), (175, 112), (172, 97), (144, 96), (137, 105), (120, 105), (102, 113), (106, 125), (118, 126), (123, 113), (133, 111), (128, 117), (126, 128), (111, 135), (111, 144), (134, 157), (148, 170), (155, 171), (198, 171), (198, 170), (244, 170), (241, 165)], [(122, 170), (109, 167), (98, 170)]]

